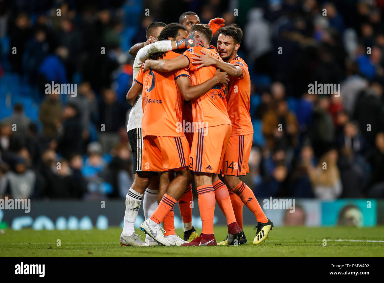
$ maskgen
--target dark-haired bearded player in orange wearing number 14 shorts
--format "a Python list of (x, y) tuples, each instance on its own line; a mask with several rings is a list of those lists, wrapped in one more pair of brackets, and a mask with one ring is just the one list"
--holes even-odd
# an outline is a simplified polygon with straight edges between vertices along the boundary
[[(244, 182), (240, 181), (239, 178), (240, 175), (245, 175), (249, 172), (248, 159), (253, 138), (253, 127), (249, 114), (250, 76), (247, 64), (237, 55), (243, 32), (237, 25), (228, 25), (220, 28), (218, 33), (217, 50), (222, 60), (217, 60), (211, 57), (209, 53), (202, 52), (203, 55), (196, 53), (197, 57), (192, 57), (193, 60), (197, 60), (192, 62), (192, 64), (197, 65), (197, 68), (214, 66), (223, 72), (227, 72), (230, 77), (227, 109), (232, 122), (232, 134), (225, 151), (222, 174), (224, 175), (225, 184), (230, 191), (237, 222), (242, 227), (243, 204), (256, 217), (258, 224), (255, 227), (257, 231), (253, 244), (257, 245), (267, 238), (269, 231), (272, 230), (273, 223), (266, 218), (252, 190)], [(243, 235), (240, 243), (245, 243), (246, 240), (244, 241), (244, 238), (245, 236)], [(229, 240), (225, 239), (218, 243), (218, 245), (225, 245), (227, 241)]]

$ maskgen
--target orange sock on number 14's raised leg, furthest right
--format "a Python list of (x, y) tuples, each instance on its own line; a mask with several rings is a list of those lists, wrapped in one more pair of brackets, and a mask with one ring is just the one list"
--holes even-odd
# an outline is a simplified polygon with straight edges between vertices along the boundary
[(233, 188), (233, 191), (236, 195), (240, 196), (243, 203), (249, 208), (250, 211), (253, 212), (257, 222), (268, 222), (268, 219), (266, 218), (260, 204), (255, 198), (253, 191), (247, 185), (245, 185), (243, 181), (240, 181), (240, 183), (238, 183), (237, 186)]

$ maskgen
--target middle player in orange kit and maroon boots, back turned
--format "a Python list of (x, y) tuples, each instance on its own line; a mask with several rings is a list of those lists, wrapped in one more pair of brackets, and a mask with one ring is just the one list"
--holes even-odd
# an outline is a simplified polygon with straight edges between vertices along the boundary
[[(193, 53), (205, 51), (211, 56), (221, 60), (220, 56), (213, 48), (208, 49), (212, 39), (212, 30), (208, 25), (197, 24), (191, 29), (191, 32), (197, 32), (204, 42), (204, 47), (195, 46), (184, 52), (184, 56), (174, 58), (173, 60), (147, 60), (144, 64), (144, 70), (154, 69), (161, 72), (172, 72), (180, 68), (190, 71), (190, 80), (192, 85), (204, 82), (207, 78), (214, 76), (216, 68), (206, 67), (197, 69), (191, 64)], [(213, 230), (213, 218), (215, 210), (215, 198), (225, 211), (228, 224), (228, 244), (239, 241), (242, 236), (242, 230), (236, 223), (232, 204), (227, 188), (217, 185), (225, 149), (227, 147), (230, 134), (231, 123), (227, 113), (227, 101), (225, 90), (221, 85), (217, 85), (205, 92), (200, 97), (192, 98), (192, 116), (194, 122), (194, 138), (190, 153), (190, 170), (194, 171), (194, 179), (199, 196), (200, 217), (203, 223), (202, 233), (198, 238), (182, 246), (190, 245), (216, 245)], [(216, 189), (216, 190), (215, 190)]]

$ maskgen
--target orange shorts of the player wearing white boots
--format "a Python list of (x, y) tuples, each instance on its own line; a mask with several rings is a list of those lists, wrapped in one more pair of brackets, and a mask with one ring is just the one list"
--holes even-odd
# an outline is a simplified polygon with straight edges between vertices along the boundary
[(188, 166), (189, 144), (185, 137), (145, 136), (142, 171), (163, 172)]

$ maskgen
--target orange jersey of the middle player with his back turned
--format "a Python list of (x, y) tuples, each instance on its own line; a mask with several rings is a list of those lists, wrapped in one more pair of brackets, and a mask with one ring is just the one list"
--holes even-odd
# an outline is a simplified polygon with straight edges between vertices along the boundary
[[(188, 58), (189, 66), (185, 70), (189, 71), (191, 78), (191, 85), (198, 85), (204, 83), (210, 78), (214, 77), (216, 68), (213, 66), (202, 67), (197, 69), (197, 65), (193, 65), (195, 57), (192, 53), (204, 55), (201, 51), (205, 51), (212, 57), (219, 60), (220, 55), (214, 49), (208, 49), (204, 47), (193, 47), (186, 50), (182, 55)], [(231, 125), (227, 113), (227, 100), (225, 97), (225, 90), (221, 85), (216, 85), (204, 95), (192, 99), (192, 117), (194, 122), (194, 130), (199, 130), (205, 127), (214, 127), (223, 124)]]

